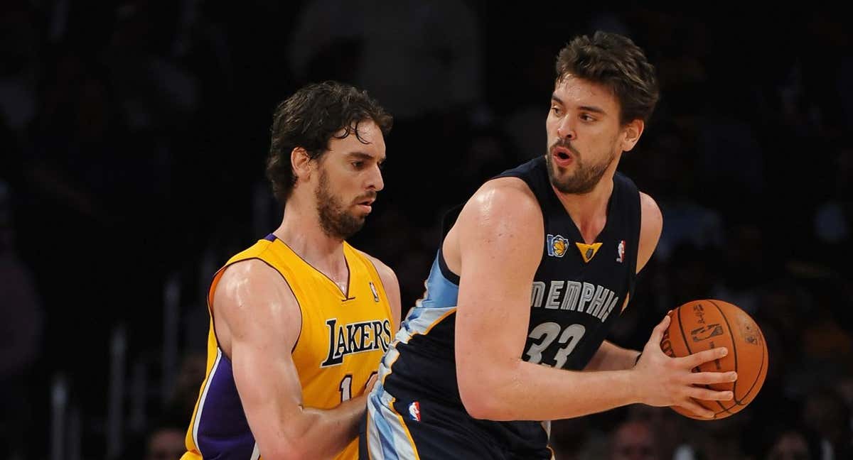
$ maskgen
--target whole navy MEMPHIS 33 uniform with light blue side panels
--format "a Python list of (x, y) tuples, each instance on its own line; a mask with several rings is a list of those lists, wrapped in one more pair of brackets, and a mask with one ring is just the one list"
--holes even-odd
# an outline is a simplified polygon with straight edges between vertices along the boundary
[[(605, 227), (595, 242), (585, 244), (551, 187), (544, 157), (497, 177), (525, 181), (543, 212), (542, 261), (531, 286), (530, 323), (521, 358), (539, 365), (581, 370), (606, 339), (633, 294), (640, 239), (640, 194), (633, 181), (617, 173)], [(445, 235), (460, 211), (461, 206), (445, 216)], [(492, 422), (467, 416), (456, 383), (454, 359), (459, 276), (444, 262), (440, 244), (426, 287), (425, 295), (409, 310), (380, 363), (380, 383), (368, 401), (368, 421), (383, 420), (368, 423), (368, 435), (363, 436), (371, 458), (466, 457), (432, 447), (430, 451), (438, 453), (425, 456), (421, 451), (421, 440), (414, 428), (409, 428), (430, 415), (428, 405), (434, 406), (432, 411), (444, 414), (444, 409), (456, 407), (460, 413), (455, 416), (466, 418), (454, 427), (463, 432), (458, 434), (459, 446), (476, 442), (496, 446), (493, 457), (500, 458), (505, 457), (501, 452), (507, 451), (512, 452), (509, 458), (550, 457), (547, 434), (539, 421)], [(411, 451), (406, 446), (409, 443)], [(440, 445), (433, 447), (442, 449)]]

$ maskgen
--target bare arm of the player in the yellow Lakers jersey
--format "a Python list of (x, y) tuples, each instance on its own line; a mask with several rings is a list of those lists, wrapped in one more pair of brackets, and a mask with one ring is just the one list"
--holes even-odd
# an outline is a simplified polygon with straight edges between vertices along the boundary
[(220, 346), (229, 356), (249, 427), (264, 458), (333, 457), (357, 437), (365, 397), (331, 410), (305, 407), (291, 351), (299, 304), (287, 282), (264, 262), (229, 267), (214, 295)]

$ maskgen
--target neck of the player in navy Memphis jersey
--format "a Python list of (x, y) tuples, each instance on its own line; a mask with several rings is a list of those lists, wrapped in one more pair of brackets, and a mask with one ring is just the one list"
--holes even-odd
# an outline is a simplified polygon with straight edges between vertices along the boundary
[[(614, 168), (615, 171), (615, 168)], [(607, 203), (613, 193), (613, 172), (607, 170), (601, 181), (589, 193), (561, 193), (554, 189), (560, 203), (566, 208), (583, 242), (591, 244), (601, 233), (607, 221)]]

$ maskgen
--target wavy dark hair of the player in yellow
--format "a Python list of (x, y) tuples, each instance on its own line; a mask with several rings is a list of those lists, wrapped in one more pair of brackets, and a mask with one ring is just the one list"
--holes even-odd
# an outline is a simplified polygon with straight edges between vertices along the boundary
[[(392, 116), (367, 91), (345, 83), (310, 83), (282, 101), (273, 114), (266, 162), (266, 176), (279, 202), (287, 202), (296, 183), (290, 164), (294, 148), (302, 147), (311, 159), (317, 159), (328, 151), (333, 136), (344, 139), (355, 133), (364, 142), (358, 124), (366, 120), (379, 126), (382, 135), (391, 131)], [(336, 135), (341, 129), (344, 134)]]

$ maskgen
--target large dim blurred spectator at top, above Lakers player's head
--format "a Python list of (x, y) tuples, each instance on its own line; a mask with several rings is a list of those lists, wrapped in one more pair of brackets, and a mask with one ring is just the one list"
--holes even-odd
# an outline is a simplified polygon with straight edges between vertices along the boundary
[(320, 0), (299, 15), (289, 60), (300, 82), (353, 83), (395, 118), (419, 118), (481, 101), (480, 27), (461, 0)]

